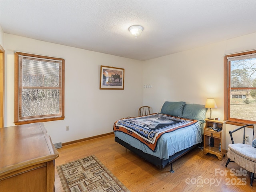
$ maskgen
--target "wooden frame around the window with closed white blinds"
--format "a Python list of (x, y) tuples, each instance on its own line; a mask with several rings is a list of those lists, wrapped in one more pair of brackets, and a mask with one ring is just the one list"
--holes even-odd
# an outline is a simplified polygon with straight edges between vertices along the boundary
[[(38, 118), (33, 120), (19, 120), (19, 55), (23, 56), (30, 56), (36, 58), (44, 58), (44, 59), (51, 59), (51, 60), (62, 60), (62, 69), (61, 69), (61, 116), (58, 117), (50, 117), (50, 118)], [(64, 101), (65, 101), (65, 60), (63, 58), (55, 58), (50, 56), (42, 56), (30, 53), (23, 53), (23, 52), (15, 52), (14, 53), (14, 124), (29, 124), (29, 123), (36, 123), (36, 122), (47, 122), (47, 121), (55, 121), (55, 120), (64, 120)], [(39, 116), (40, 117), (40, 116)]]

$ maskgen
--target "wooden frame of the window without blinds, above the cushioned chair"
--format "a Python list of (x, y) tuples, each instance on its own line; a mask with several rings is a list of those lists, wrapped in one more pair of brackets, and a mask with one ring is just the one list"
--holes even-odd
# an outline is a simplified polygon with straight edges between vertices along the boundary
[[(226, 120), (226, 124), (243, 126), (246, 124), (256, 123), (256, 121), (251, 121), (251, 120), (230, 118), (230, 64), (228, 62), (229, 57), (242, 56), (242, 55), (248, 55), (248, 54), (254, 54), (254, 53), (256, 53), (256, 50), (240, 52), (240, 53), (224, 56), (224, 120)], [(252, 88), (245, 87), (241, 89), (252, 89)]]

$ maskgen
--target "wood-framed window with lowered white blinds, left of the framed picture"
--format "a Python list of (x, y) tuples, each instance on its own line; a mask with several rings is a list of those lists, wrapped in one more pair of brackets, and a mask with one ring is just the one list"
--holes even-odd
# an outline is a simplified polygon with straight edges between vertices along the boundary
[(15, 124), (64, 119), (64, 59), (15, 53)]

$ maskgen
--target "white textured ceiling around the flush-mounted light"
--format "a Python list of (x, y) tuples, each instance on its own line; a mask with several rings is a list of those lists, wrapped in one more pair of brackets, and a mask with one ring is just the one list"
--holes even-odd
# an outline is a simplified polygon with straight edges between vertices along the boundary
[[(8, 34), (148, 60), (256, 32), (256, 0), (0, 0)], [(141, 25), (137, 39), (128, 28)]]

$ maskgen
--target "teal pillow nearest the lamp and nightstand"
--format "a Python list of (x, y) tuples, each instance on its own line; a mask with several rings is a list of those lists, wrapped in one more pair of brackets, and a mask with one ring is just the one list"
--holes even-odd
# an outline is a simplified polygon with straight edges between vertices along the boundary
[(207, 108), (205, 108), (204, 105), (185, 104), (182, 116), (180, 117), (186, 119), (200, 120), (204, 122), (206, 111)]

